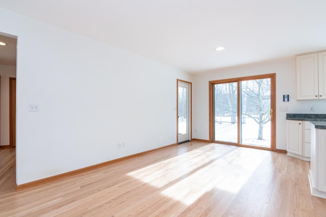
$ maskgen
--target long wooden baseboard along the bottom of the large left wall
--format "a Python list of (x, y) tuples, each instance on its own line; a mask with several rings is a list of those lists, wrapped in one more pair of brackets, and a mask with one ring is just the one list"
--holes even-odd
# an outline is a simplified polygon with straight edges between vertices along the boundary
[(88, 171), (91, 171), (91, 170), (94, 170), (94, 169), (97, 169), (97, 168), (100, 168), (100, 167), (105, 167), (105, 166), (108, 166), (108, 165), (112, 165), (112, 164), (115, 164), (115, 163), (118, 163), (118, 162), (121, 162), (121, 161), (125, 161), (125, 160), (131, 159), (131, 158), (137, 158), (137, 157), (143, 156), (145, 154), (149, 154), (149, 153), (152, 153), (152, 152), (155, 152), (155, 151), (159, 151), (159, 150), (170, 148), (170, 147), (177, 146), (177, 145), (178, 144), (174, 143), (174, 144), (171, 144), (171, 145), (162, 146), (162, 147), (151, 149), (151, 150), (148, 150), (148, 151), (143, 151), (143, 152), (140, 152), (140, 153), (131, 154), (131, 155), (123, 157), (123, 158), (118, 158), (118, 159), (115, 159), (115, 160), (112, 160), (112, 161), (107, 161), (107, 162), (103, 162), (103, 163), (100, 163), (100, 164), (95, 164), (93, 166), (84, 167), (84, 168), (81, 168), (81, 169), (73, 170), (73, 171), (62, 173), (62, 174), (59, 174), (59, 175), (46, 177), (46, 178), (43, 178), (43, 179), (31, 181), (31, 182), (24, 183), (24, 184), (18, 184), (18, 185), (16, 185), (16, 192), (24, 190), (24, 189), (29, 189), (29, 188), (32, 188), (32, 187), (36, 187), (38, 185), (45, 184), (45, 183), (48, 183), (48, 182), (56, 181), (56, 180), (59, 180), (59, 179), (68, 178), (70, 176), (77, 175), (77, 174), (84, 173), (84, 172), (88, 172)]

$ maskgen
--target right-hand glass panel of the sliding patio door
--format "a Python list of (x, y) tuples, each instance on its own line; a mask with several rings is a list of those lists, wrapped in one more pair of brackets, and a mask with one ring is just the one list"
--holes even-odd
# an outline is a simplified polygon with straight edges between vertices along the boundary
[(240, 81), (240, 143), (270, 148), (270, 78)]

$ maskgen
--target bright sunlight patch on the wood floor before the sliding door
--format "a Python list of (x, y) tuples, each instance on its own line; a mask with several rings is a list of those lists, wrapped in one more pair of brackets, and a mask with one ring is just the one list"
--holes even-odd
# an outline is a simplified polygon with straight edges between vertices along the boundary
[(231, 194), (239, 192), (268, 153), (210, 144), (128, 175), (161, 188), (161, 193), (167, 197), (191, 205), (213, 189)]

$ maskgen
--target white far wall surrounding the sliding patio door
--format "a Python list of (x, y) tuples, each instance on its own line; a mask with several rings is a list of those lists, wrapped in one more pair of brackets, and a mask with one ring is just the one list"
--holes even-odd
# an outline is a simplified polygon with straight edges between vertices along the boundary
[[(296, 90), (294, 56), (252, 65), (220, 69), (194, 76), (193, 138), (204, 140), (209, 139), (209, 81), (270, 73), (276, 73), (277, 149), (286, 149), (286, 113), (326, 113), (326, 100), (295, 100)], [(283, 102), (284, 94), (289, 95), (289, 102)], [(288, 111), (280, 112), (279, 107), (281, 106), (288, 107)], [(314, 106), (314, 112), (309, 111), (309, 106)], [(195, 132), (195, 130), (197, 132)]]

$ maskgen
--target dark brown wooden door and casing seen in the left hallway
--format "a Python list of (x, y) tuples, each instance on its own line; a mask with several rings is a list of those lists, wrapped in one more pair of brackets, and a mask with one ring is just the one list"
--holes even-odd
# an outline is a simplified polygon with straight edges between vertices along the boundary
[(16, 78), (9, 78), (10, 147), (16, 147)]

